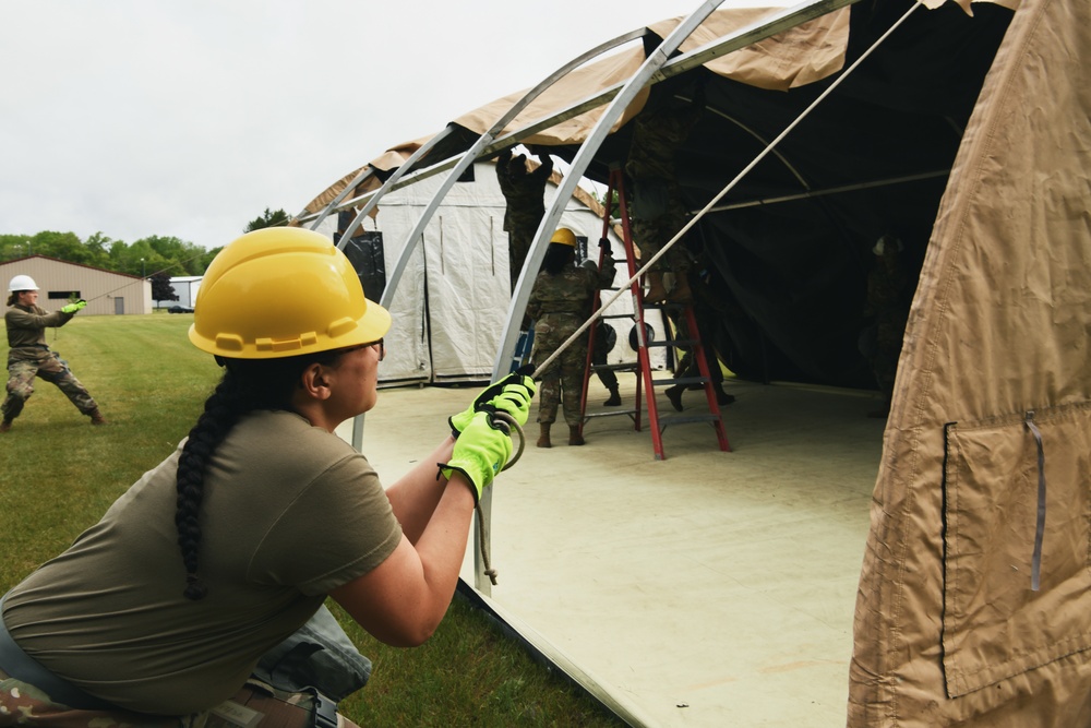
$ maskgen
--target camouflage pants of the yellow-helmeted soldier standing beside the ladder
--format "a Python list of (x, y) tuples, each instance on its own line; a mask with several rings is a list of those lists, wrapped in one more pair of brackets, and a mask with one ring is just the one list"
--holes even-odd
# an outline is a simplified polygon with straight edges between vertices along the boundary
[[(543, 315), (535, 324), (536, 363), (546, 361), (583, 323), (571, 314)], [(584, 393), (584, 370), (587, 366), (587, 337), (577, 339), (561, 353), (542, 372), (538, 385), (538, 421), (551, 425), (556, 421), (559, 404), (564, 407), (564, 421), (570, 427), (579, 425), (579, 398)]]

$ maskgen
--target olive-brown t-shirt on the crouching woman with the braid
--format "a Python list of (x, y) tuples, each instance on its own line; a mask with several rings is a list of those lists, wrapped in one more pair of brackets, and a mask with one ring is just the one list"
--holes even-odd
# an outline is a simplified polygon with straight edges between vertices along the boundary
[(8, 595), (23, 649), (120, 707), (187, 715), (229, 699), (326, 593), (400, 540), (379, 477), (298, 415), (244, 417), (212, 457), (201, 509), (200, 601), (182, 596), (176, 451), (64, 553)]

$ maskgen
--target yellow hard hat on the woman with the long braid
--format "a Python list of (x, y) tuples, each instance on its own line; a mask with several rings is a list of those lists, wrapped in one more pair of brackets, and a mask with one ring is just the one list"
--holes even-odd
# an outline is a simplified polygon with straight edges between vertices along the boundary
[(327, 238), (268, 227), (228, 243), (201, 281), (190, 341), (235, 359), (275, 359), (375, 342), (391, 314), (363, 297)]

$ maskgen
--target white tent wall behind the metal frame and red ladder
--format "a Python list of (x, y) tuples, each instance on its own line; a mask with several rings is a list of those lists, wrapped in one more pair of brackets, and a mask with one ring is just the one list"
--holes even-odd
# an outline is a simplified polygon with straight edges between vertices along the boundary
[[(413, 252), (406, 266), (389, 307), (394, 323), (386, 336), (386, 359), (380, 365), (383, 384), (476, 381), (492, 374), (512, 295), (504, 231), (506, 203), (494, 165), (479, 162), (472, 169), (472, 181), (457, 182), (447, 193), (424, 229), (423, 247)], [(434, 177), (391, 192), (379, 203), (374, 219), (364, 219), (362, 230), (383, 234), (387, 268), (401, 254), (406, 236), (442, 181), (442, 177)], [(547, 184), (546, 204), (555, 195), (556, 187)], [(586, 237), (588, 254), (597, 258), (602, 220), (596, 212), (574, 198), (560, 226)], [(335, 228), (335, 216), (331, 216), (319, 231), (333, 237)], [(624, 247), (612, 230), (610, 240), (618, 260), (614, 285), (620, 286), (628, 278)], [(603, 291), (603, 300), (610, 295)], [(377, 298), (371, 293), (368, 297)], [(632, 310), (628, 294), (609, 309), (610, 313)], [(636, 355), (627, 345), (632, 323), (624, 319), (608, 323), (618, 334), (608, 361), (635, 361)], [(658, 317), (651, 317), (648, 323), (658, 336), (662, 335)], [(663, 362), (663, 354), (657, 351), (652, 366), (662, 367)]]

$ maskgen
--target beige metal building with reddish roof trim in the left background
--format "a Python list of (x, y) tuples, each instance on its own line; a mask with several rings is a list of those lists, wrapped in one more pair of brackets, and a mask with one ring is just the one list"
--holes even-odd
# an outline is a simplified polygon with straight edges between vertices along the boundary
[(47, 311), (56, 311), (74, 295), (87, 301), (82, 315), (152, 312), (152, 282), (140, 276), (29, 255), (0, 263), (5, 294), (8, 283), (16, 275), (28, 275), (40, 286), (38, 306)]

